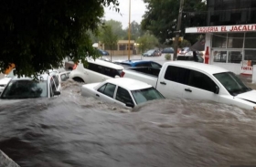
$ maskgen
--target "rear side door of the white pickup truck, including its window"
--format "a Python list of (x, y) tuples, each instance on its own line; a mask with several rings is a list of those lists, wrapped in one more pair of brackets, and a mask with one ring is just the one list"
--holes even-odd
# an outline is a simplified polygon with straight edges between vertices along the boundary
[(156, 89), (165, 98), (182, 98), (186, 75), (187, 70), (185, 68), (163, 67), (157, 80)]

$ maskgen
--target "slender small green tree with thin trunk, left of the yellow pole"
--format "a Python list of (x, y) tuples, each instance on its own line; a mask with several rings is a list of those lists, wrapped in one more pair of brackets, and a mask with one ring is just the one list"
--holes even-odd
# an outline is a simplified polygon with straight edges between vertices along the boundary
[(105, 45), (105, 49), (111, 50), (111, 61), (112, 61), (112, 50), (117, 46), (117, 35), (113, 32), (112, 26), (104, 26), (103, 32), (101, 33), (101, 43)]

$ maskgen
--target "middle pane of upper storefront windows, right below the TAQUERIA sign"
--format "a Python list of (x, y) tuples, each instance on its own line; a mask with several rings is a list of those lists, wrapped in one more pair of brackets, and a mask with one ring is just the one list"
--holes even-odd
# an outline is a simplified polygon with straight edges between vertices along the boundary
[(228, 35), (228, 48), (242, 48), (244, 33), (232, 33)]

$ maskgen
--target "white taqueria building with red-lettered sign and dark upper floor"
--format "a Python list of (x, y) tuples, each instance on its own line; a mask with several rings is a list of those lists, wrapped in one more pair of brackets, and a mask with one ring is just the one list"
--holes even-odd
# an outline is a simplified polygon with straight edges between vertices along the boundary
[(208, 0), (207, 26), (186, 33), (205, 34), (206, 63), (251, 75), (256, 65), (256, 1)]

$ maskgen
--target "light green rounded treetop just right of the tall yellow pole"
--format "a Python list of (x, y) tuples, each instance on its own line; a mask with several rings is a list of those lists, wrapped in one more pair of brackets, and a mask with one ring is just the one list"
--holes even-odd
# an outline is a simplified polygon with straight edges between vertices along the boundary
[(139, 44), (139, 50), (144, 52), (147, 49), (157, 46), (158, 39), (149, 33), (145, 33), (144, 36), (137, 39), (137, 43)]

